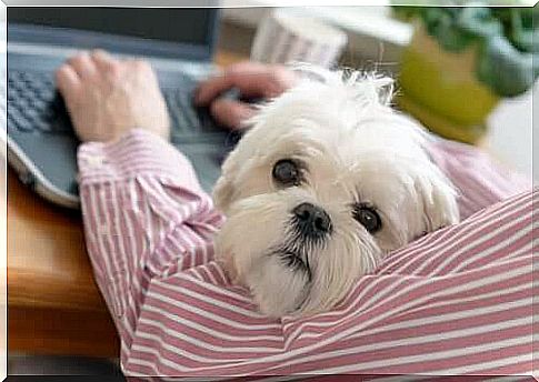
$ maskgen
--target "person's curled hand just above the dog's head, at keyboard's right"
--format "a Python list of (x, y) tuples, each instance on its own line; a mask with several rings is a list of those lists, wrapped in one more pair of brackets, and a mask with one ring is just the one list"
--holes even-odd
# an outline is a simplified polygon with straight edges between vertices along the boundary
[(230, 89), (238, 89), (241, 98), (275, 98), (291, 88), (296, 74), (281, 66), (241, 62), (202, 82), (197, 89), (194, 104), (209, 107), (211, 115), (230, 129), (256, 113), (256, 109), (241, 100), (219, 98)]

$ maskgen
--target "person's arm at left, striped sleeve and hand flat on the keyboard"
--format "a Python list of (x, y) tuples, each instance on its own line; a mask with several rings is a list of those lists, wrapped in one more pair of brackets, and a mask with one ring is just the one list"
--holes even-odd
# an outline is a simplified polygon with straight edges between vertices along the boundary
[(151, 280), (209, 261), (222, 218), (189, 160), (166, 141), (168, 113), (151, 68), (84, 53), (61, 67), (57, 80), (83, 141), (86, 242), (123, 359)]

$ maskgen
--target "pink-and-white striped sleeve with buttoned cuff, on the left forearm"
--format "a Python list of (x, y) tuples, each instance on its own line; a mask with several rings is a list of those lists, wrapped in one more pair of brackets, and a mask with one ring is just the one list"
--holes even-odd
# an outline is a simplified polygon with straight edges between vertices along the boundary
[(188, 159), (142, 130), (82, 144), (78, 163), (87, 248), (126, 362), (151, 281), (209, 261), (221, 217)]

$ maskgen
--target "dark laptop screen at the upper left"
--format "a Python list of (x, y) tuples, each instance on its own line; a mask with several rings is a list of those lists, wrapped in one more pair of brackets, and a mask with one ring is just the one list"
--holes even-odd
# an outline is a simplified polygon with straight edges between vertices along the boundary
[(82, 42), (99, 32), (208, 49), (214, 40), (216, 13), (210, 8), (9, 7), (8, 22), (86, 31)]

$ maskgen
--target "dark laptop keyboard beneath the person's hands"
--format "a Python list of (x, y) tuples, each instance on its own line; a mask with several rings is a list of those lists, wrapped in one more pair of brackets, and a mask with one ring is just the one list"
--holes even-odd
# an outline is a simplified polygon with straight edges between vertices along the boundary
[[(194, 81), (186, 78), (184, 83), (181, 89), (163, 90), (172, 139), (180, 141), (189, 141), (193, 130), (202, 134), (216, 131), (208, 113), (191, 104)], [(72, 133), (71, 121), (52, 76), (8, 70), (8, 129), (48, 134)]]

